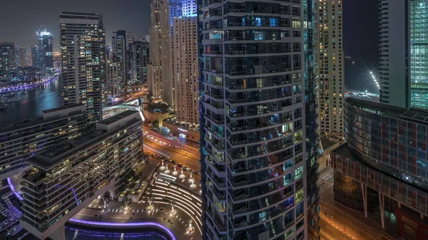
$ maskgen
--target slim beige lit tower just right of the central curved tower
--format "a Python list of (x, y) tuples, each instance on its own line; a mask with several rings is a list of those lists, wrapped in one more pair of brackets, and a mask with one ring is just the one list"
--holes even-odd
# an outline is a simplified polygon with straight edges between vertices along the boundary
[(342, 1), (317, 1), (317, 75), (320, 135), (343, 136), (345, 54), (342, 44)]

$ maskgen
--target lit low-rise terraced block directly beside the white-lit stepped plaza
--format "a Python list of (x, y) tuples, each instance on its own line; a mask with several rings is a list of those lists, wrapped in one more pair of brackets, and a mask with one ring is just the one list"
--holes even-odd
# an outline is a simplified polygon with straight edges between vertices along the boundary
[(21, 191), (21, 226), (39, 239), (65, 239), (64, 224), (103, 192), (123, 184), (142, 159), (143, 131), (138, 111), (96, 123), (83, 135), (59, 142), (31, 157)]

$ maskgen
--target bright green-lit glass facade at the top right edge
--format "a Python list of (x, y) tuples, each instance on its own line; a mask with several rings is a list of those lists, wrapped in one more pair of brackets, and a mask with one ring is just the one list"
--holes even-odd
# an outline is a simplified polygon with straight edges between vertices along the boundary
[(409, 0), (410, 88), (413, 108), (428, 109), (428, 3)]

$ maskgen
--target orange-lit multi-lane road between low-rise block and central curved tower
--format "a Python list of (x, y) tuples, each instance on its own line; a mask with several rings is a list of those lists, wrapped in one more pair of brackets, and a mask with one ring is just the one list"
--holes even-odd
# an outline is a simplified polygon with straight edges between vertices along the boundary
[(195, 171), (200, 171), (199, 152), (195, 154), (195, 152), (188, 152), (176, 147), (162, 145), (146, 136), (144, 136), (144, 152), (155, 157), (156, 155), (163, 155), (171, 160), (175, 160), (177, 163), (181, 162), (183, 165), (186, 165)]

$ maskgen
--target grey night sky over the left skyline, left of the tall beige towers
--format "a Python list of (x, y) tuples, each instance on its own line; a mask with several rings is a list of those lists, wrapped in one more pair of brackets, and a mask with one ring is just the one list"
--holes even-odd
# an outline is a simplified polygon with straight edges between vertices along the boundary
[(4, 0), (1, 4), (0, 41), (13, 41), (21, 48), (36, 43), (36, 30), (43, 24), (54, 35), (58, 51), (59, 14), (77, 11), (103, 14), (106, 41), (112, 32), (132, 31), (134, 36), (148, 35), (151, 0)]

